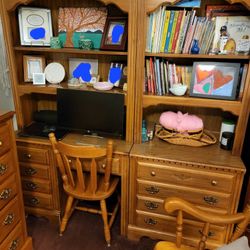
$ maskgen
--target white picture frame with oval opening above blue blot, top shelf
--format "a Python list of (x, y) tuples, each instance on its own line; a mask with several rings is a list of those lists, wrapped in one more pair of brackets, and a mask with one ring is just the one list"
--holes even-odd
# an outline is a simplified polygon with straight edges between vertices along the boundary
[(53, 36), (50, 9), (21, 7), (18, 21), (21, 45), (50, 46)]

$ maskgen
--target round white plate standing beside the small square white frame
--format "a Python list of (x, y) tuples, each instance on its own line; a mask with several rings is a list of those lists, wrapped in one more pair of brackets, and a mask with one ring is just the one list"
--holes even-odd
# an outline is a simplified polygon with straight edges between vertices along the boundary
[(49, 63), (45, 70), (45, 78), (49, 83), (58, 84), (65, 77), (65, 69), (60, 63)]

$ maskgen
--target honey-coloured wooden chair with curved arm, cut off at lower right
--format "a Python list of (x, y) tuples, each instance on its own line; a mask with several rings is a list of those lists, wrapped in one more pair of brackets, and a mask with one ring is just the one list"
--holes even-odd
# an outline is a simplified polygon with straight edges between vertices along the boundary
[[(233, 215), (218, 215), (211, 212), (205, 212), (191, 203), (176, 197), (167, 198), (164, 202), (164, 208), (167, 213), (173, 213), (177, 211), (176, 217), (176, 243), (159, 241), (154, 250), (203, 250), (206, 246), (206, 240), (209, 233), (210, 223), (213, 224), (237, 224), (234, 233), (229, 240), (232, 242), (238, 239), (245, 231), (250, 221), (250, 204), (248, 203), (242, 213)], [(191, 247), (181, 244), (182, 230), (183, 230), (183, 212), (192, 215), (196, 219), (204, 222), (204, 226), (201, 232), (201, 238), (197, 247)], [(236, 250), (236, 249), (235, 249)]]

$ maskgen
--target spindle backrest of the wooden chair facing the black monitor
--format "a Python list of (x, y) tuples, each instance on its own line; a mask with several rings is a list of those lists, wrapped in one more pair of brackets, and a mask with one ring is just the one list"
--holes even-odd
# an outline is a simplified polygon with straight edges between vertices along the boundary
[[(64, 187), (77, 191), (79, 195), (86, 192), (95, 194), (102, 188), (109, 189), (112, 166), (113, 142), (108, 140), (106, 148), (97, 146), (75, 146), (57, 141), (54, 133), (49, 134), (57, 164), (60, 169)], [(97, 160), (106, 158), (104, 185), (98, 186)], [(89, 178), (86, 178), (86, 175)]]

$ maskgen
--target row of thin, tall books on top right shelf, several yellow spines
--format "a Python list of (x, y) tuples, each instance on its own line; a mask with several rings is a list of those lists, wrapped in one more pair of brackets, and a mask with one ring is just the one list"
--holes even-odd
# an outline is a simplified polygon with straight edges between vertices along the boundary
[(194, 40), (199, 53), (207, 54), (213, 43), (215, 19), (197, 17), (196, 10), (168, 10), (159, 7), (147, 16), (146, 52), (191, 53)]

